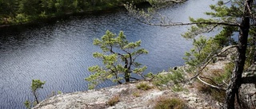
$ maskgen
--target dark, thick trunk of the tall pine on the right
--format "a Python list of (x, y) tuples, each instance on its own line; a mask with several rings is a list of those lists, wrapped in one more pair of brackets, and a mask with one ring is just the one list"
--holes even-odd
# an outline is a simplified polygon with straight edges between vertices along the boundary
[[(246, 61), (247, 39), (250, 29), (250, 10), (246, 4), (250, 6), (253, 0), (246, 0), (244, 15), (240, 25), (239, 39), (238, 39), (238, 56), (235, 60), (235, 66), (231, 77), (230, 85), (226, 90), (226, 108), (234, 109), (235, 95), (238, 95), (238, 89), (242, 84), (242, 72)], [(238, 97), (238, 96), (237, 96)], [(238, 99), (237, 99), (238, 100)]]

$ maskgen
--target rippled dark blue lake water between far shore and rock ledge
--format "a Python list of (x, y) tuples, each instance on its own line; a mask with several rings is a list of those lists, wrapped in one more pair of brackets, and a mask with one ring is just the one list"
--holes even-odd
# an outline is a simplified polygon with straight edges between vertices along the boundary
[[(159, 10), (173, 21), (189, 21), (189, 17), (206, 17), (212, 0), (189, 0)], [(142, 40), (142, 47), (150, 53), (138, 60), (146, 72), (162, 72), (184, 64), (183, 54), (191, 48), (191, 41), (181, 37), (188, 26), (170, 28), (150, 26), (130, 17), (126, 10), (106, 14), (70, 17), (66, 20), (22, 29), (8, 29), (0, 35), (0, 108), (25, 108), (23, 102), (33, 99), (30, 84), (33, 79), (46, 81), (39, 91), (40, 99), (51, 91), (85, 91), (84, 80), (90, 75), (87, 68), (100, 64), (92, 53), (99, 51), (94, 38), (107, 29), (123, 30), (129, 41)], [(101, 84), (100, 88), (112, 84)]]

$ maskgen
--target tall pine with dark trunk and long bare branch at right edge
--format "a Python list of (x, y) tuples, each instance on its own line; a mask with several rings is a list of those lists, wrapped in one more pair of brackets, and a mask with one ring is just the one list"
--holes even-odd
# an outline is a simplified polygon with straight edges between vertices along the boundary
[[(212, 12), (206, 12), (207, 15), (210, 15), (212, 18), (190, 18), (190, 22), (172, 22), (166, 21), (165, 17), (160, 17), (159, 23), (154, 22), (150, 14), (147, 14), (144, 11), (138, 11), (134, 9), (133, 5), (126, 5), (126, 9), (129, 10), (130, 14), (134, 15), (135, 18), (138, 18), (139, 21), (142, 21), (148, 25), (157, 25), (157, 26), (174, 26), (174, 25), (191, 25), (191, 28), (188, 32), (184, 33), (182, 36), (190, 39), (194, 39), (202, 33), (208, 33), (216, 28), (222, 29), (215, 37), (210, 38), (209, 40), (203, 40), (202, 38), (198, 41), (194, 41), (196, 48), (192, 49), (190, 53), (186, 53), (187, 57), (185, 58), (188, 64), (197, 65), (197, 68), (205, 68), (207, 64), (210, 63), (210, 60), (213, 60), (215, 56), (218, 56), (223, 51), (223, 47), (226, 45), (232, 45), (230, 48), (237, 48), (238, 53), (234, 57), (234, 70), (230, 78), (229, 85), (225, 88), (226, 90), (226, 108), (234, 109), (235, 99), (239, 101), (238, 91), (242, 84), (254, 84), (256, 83), (256, 76), (250, 78), (242, 78), (242, 72), (244, 71), (244, 66), (246, 64), (246, 56), (252, 57), (253, 52), (248, 52), (248, 50), (254, 49), (255, 38), (254, 38), (254, 26), (256, 25), (255, 18), (255, 1), (254, 0), (220, 0), (217, 5), (211, 5)], [(152, 10), (152, 9), (151, 9)], [(148, 10), (149, 11), (149, 10)], [(238, 32), (238, 41), (235, 42), (232, 40), (234, 32)], [(253, 37), (251, 41), (249, 40), (249, 33), (252, 33)], [(248, 41), (249, 40), (249, 41)], [(212, 41), (217, 44), (216, 49), (217, 53), (207, 48), (206, 45), (208, 41)], [(199, 42), (199, 43), (198, 43)], [(250, 42), (249, 47), (248, 42)], [(206, 44), (206, 45), (202, 45)], [(251, 48), (251, 49), (248, 49)], [(219, 50), (218, 50), (219, 49)], [(226, 51), (225, 49), (224, 51)], [(246, 51), (247, 50), (247, 51)], [(206, 52), (206, 53), (205, 53)], [(247, 53), (247, 54), (246, 54)], [(249, 53), (249, 54), (248, 54)], [(201, 56), (202, 55), (202, 56)], [(255, 57), (255, 56), (254, 56)], [(253, 58), (254, 58), (253, 57)], [(252, 64), (252, 62), (250, 63)], [(192, 78), (197, 78), (201, 70), (198, 70), (198, 73)], [(218, 86), (210, 85), (214, 88), (219, 88)], [(239, 103), (239, 102), (238, 102)]]

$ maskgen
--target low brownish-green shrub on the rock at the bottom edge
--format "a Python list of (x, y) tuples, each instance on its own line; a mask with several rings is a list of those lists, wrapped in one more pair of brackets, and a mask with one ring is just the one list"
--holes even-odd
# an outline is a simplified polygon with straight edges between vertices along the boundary
[(154, 109), (185, 109), (186, 107), (186, 103), (182, 99), (160, 97)]

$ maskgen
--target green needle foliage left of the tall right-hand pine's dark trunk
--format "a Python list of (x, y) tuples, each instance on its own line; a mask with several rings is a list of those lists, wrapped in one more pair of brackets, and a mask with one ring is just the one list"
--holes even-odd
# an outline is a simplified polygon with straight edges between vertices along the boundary
[[(219, 1), (217, 5), (211, 5), (210, 8), (214, 11), (206, 12), (207, 15), (212, 16), (212, 18), (190, 18), (191, 22), (198, 23), (197, 25), (192, 25), (188, 32), (182, 34), (182, 37), (188, 39), (194, 39), (202, 33), (209, 33), (210, 31), (219, 28), (221, 29), (220, 33), (214, 37), (206, 39), (206, 37), (199, 37), (194, 39), (193, 45), (194, 48), (190, 50), (190, 53), (186, 53), (184, 59), (186, 64), (190, 64), (198, 68), (205, 64), (214, 54), (219, 53), (220, 50), (227, 45), (234, 45), (236, 42), (231, 38), (234, 32), (238, 31), (238, 27), (232, 25), (215, 25), (210, 23), (199, 23), (199, 22), (230, 22), (236, 21), (236, 15), (240, 11), (237, 6), (231, 4), (231, 7), (225, 5), (223, 1)], [(218, 17), (218, 18), (216, 18)]]

